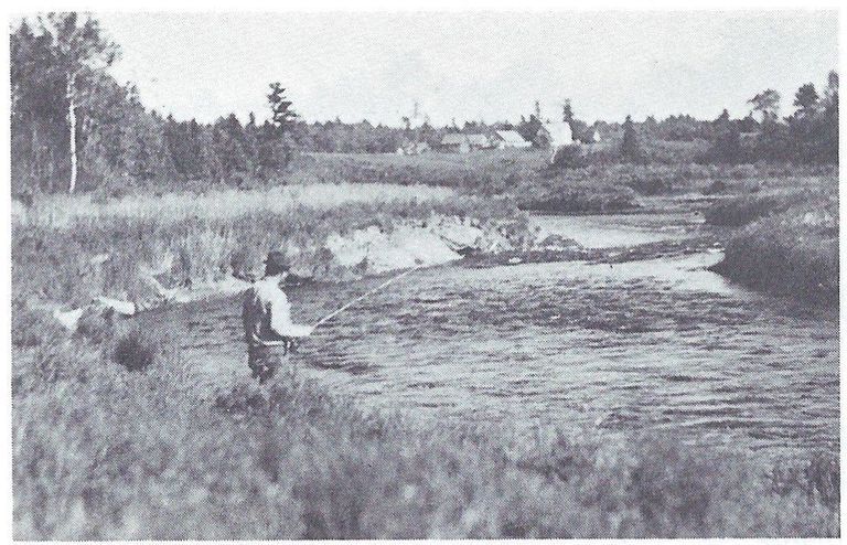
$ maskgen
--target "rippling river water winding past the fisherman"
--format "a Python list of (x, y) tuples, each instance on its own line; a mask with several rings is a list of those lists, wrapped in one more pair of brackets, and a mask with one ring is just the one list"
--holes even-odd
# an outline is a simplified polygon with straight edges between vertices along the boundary
[[(587, 247), (701, 234), (693, 213), (537, 217)], [(706, 267), (717, 249), (609, 265), (421, 269), (319, 328), (292, 365), (416, 418), (557, 424), (766, 453), (838, 449), (838, 320)], [(289, 290), (310, 323), (384, 278)], [(146, 314), (211, 386), (248, 375), (237, 298)]]

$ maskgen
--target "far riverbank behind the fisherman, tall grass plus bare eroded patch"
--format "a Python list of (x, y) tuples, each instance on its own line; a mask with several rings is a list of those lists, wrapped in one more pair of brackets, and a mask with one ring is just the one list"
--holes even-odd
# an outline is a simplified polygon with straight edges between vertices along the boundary
[(243, 290), (270, 249), (286, 252), (301, 278), (343, 281), (468, 248), (521, 248), (532, 236), (503, 200), (432, 188), (57, 197), (13, 218), (13, 318), (52, 312), (73, 330), (92, 304), (133, 314)]

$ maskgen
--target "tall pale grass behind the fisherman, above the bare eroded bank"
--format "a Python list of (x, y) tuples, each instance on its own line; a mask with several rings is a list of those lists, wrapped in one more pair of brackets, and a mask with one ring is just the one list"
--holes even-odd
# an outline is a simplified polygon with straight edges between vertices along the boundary
[[(324, 185), (205, 195), (129, 195), (93, 202), (83, 195), (36, 203), (13, 222), (12, 279), (25, 299), (87, 304), (97, 296), (131, 301), (163, 289), (249, 277), (269, 249), (285, 249), (301, 276), (337, 280), (355, 275), (324, 246), (330, 235), (425, 222), (432, 215), (473, 217), (483, 228), (521, 225), (504, 201), (449, 190)], [(515, 223), (517, 222), (517, 223)], [(521, 236), (521, 229), (505, 229)], [(142, 275), (141, 272), (146, 272)]]

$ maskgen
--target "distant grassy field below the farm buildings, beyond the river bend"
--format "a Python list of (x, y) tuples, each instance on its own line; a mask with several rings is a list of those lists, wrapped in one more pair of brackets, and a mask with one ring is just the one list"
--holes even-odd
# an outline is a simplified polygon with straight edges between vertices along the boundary
[[(679, 143), (679, 142), (677, 142)], [(682, 142), (686, 143), (686, 142)], [(315, 153), (293, 172), (297, 182), (388, 182), (450, 186), (476, 195), (504, 195), (524, 210), (603, 213), (639, 206), (641, 195), (742, 192), (778, 183), (798, 183), (826, 168), (778, 164), (716, 165), (694, 162), (626, 164), (590, 162), (585, 168), (553, 169), (539, 150), (472, 153), (368, 156)]]

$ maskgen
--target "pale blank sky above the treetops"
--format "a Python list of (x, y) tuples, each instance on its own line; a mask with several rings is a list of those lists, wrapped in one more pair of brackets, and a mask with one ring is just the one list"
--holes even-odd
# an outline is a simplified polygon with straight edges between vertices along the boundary
[(178, 119), (267, 117), (279, 81), (305, 120), (399, 126), (558, 118), (620, 121), (749, 111), (774, 88), (821, 89), (837, 68), (836, 12), (101, 13), (111, 68)]

